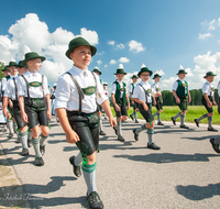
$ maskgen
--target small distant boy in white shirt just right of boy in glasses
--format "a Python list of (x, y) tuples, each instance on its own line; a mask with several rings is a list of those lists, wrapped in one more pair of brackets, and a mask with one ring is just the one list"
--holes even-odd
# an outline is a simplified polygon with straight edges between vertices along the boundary
[(164, 125), (164, 123), (161, 121), (161, 113), (163, 112), (163, 99), (162, 99), (162, 92), (161, 92), (162, 90), (161, 90), (161, 85), (158, 84), (161, 77), (162, 76), (160, 76), (158, 74), (155, 74), (153, 77), (155, 82), (152, 85), (152, 89), (154, 92), (157, 92), (156, 94), (157, 96), (153, 97), (153, 103), (157, 109), (156, 113), (153, 114), (153, 118), (155, 118), (155, 116), (157, 114), (157, 120), (158, 120), (157, 124)]

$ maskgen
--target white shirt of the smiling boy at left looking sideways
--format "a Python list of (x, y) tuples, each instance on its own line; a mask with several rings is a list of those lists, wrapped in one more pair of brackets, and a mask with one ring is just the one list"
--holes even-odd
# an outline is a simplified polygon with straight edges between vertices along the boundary
[[(38, 74), (37, 72), (36, 73), (26, 72), (25, 74), (23, 74), (23, 76), (26, 78), (29, 84), (34, 81), (42, 82), (42, 75)], [(18, 84), (18, 96), (28, 97), (26, 82), (22, 76), (19, 76), (16, 84)], [(43, 87), (44, 87), (44, 94), (42, 86), (38, 87), (30, 86), (29, 87), (30, 98), (43, 98), (44, 96), (50, 94), (46, 76), (44, 76)]]

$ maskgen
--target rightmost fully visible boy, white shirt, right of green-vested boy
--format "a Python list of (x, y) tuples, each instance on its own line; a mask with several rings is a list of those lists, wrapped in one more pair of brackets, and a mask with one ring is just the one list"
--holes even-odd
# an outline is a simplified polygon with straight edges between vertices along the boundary
[(213, 119), (213, 108), (212, 106), (216, 106), (215, 101), (215, 87), (211, 84), (215, 78), (215, 74), (212, 72), (208, 72), (204, 78), (207, 79), (205, 85), (202, 86), (202, 99), (201, 102), (207, 109), (207, 113), (202, 114), (200, 118), (195, 119), (196, 125), (199, 127), (199, 122), (208, 117), (208, 131), (215, 131), (218, 132), (218, 130), (213, 129), (212, 127), (212, 119)]

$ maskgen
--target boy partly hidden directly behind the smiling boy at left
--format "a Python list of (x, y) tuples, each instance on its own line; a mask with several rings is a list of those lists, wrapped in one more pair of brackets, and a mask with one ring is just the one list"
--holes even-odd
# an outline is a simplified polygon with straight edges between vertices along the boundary
[[(19, 62), (18, 67), (18, 72), (19, 72), (19, 76), (23, 75), (26, 73), (28, 70), (28, 66), (25, 64), (23, 64), (22, 61)], [(8, 117), (9, 116), (9, 111), (8, 111), (8, 100), (11, 99), (13, 102), (13, 117), (15, 119), (15, 122), (19, 127), (19, 139), (22, 143), (22, 155), (26, 156), (29, 155), (29, 150), (28, 150), (28, 125), (26, 123), (22, 120), (21, 118), (21, 111), (19, 108), (19, 97), (18, 97), (18, 77), (13, 77), (11, 79), (8, 80), (7, 82), (7, 89), (4, 91), (4, 98), (3, 98), (3, 103), (4, 103), (4, 116)], [(30, 144), (30, 142), (29, 142)]]

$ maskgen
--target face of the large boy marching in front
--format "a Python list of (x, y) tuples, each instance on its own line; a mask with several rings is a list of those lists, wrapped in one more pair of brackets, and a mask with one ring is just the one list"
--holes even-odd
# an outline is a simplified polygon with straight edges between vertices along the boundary
[(91, 62), (91, 48), (90, 46), (78, 46), (69, 55), (74, 65), (79, 69), (87, 69), (87, 66)]

